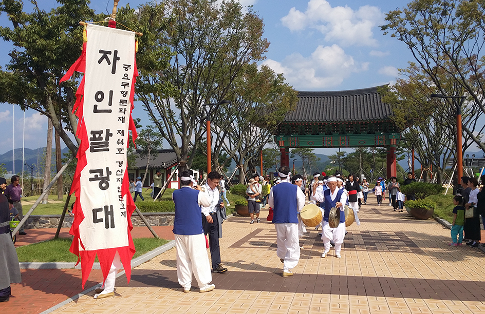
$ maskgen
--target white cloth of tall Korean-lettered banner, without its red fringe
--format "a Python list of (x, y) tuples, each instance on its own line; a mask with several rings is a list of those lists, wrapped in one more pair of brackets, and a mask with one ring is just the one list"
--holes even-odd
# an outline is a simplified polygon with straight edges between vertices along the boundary
[[(135, 33), (87, 25), (83, 119), (89, 148), (80, 176), (84, 250), (128, 246), (126, 170), (129, 95), (135, 68)], [(129, 194), (128, 194), (129, 197)]]

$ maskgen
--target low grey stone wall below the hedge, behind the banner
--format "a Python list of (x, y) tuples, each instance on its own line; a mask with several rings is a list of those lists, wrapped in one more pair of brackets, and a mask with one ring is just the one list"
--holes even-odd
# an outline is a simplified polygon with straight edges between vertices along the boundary
[[(175, 212), (144, 212), (143, 216), (151, 226), (169, 226), (174, 224)], [(24, 225), (25, 229), (57, 228), (61, 215), (31, 215)], [(63, 228), (70, 228), (73, 217), (66, 215), (62, 222)], [(132, 215), (132, 224), (135, 227), (144, 226), (145, 224), (134, 212)]]

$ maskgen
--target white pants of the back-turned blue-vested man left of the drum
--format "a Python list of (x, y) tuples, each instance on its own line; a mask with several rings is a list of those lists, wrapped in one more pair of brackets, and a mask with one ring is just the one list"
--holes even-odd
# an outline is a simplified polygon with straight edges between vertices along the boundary
[(300, 260), (298, 224), (274, 224), (276, 229), (276, 255), (283, 259), (283, 271), (289, 272)]

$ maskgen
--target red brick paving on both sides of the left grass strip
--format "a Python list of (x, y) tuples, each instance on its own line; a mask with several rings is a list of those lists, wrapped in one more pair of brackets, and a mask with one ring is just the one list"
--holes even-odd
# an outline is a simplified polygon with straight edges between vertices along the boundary
[[(173, 240), (173, 226), (154, 226), (162, 239)], [(56, 229), (27, 229), (27, 235), (18, 235), (15, 246), (53, 239)], [(146, 227), (133, 228), (134, 238), (153, 237)], [(62, 228), (61, 237), (69, 237), (69, 228)], [(12, 284), (9, 302), (0, 303), (2, 314), (40, 313), (82, 291), (79, 269), (21, 269), (22, 283)], [(86, 288), (103, 280), (101, 270), (92, 270)]]

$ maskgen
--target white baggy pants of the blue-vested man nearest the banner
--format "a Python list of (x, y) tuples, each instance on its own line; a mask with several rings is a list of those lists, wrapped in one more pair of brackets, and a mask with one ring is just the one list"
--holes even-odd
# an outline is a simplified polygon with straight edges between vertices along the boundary
[(177, 279), (186, 290), (192, 286), (192, 273), (199, 288), (212, 281), (211, 265), (203, 233), (194, 235), (175, 234), (177, 248)]

